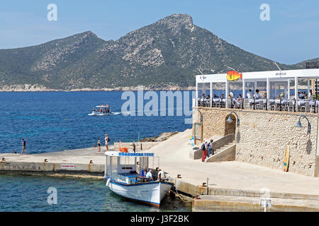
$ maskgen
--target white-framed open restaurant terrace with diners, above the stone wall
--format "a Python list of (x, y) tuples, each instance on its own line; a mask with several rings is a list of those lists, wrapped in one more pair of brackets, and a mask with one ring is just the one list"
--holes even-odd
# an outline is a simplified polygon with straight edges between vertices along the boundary
[(318, 113), (319, 69), (244, 72), (237, 78), (196, 76), (196, 107)]

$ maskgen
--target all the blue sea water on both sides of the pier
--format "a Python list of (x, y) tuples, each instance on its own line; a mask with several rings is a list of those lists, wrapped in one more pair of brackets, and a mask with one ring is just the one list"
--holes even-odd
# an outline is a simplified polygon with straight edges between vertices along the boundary
[[(183, 112), (191, 111), (191, 91), (178, 91), (182, 98), (177, 95), (172, 105), (169, 98), (161, 100), (166, 91), (152, 92), (146, 95), (145, 91), (142, 98), (137, 91), (0, 93), (0, 153), (20, 153), (22, 138), (27, 142), (28, 153), (34, 154), (91, 148), (97, 138), (103, 145), (106, 133), (111, 143), (132, 142), (191, 128), (185, 120), (191, 116)], [(161, 107), (161, 101), (167, 104)], [(89, 116), (98, 105), (108, 105), (112, 114)], [(49, 187), (57, 189), (57, 205), (47, 203)], [(0, 211), (153, 210), (157, 208), (116, 196), (103, 180), (0, 175)], [(159, 209), (162, 210), (191, 211), (191, 203), (167, 196)]]

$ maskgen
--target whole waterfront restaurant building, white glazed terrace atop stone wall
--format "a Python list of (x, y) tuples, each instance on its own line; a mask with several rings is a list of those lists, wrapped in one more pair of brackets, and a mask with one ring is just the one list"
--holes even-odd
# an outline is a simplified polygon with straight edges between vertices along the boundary
[(319, 69), (198, 75), (194, 136), (235, 134), (236, 161), (281, 170), (288, 146), (289, 172), (318, 177), (317, 79)]

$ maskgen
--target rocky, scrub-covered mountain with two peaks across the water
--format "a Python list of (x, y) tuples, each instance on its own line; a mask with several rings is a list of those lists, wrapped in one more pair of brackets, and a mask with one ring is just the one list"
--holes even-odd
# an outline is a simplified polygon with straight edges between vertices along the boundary
[[(303, 64), (279, 64), (301, 69)], [(203, 73), (277, 70), (270, 59), (225, 42), (174, 14), (105, 41), (83, 32), (33, 47), (0, 49), (0, 89), (188, 88)]]

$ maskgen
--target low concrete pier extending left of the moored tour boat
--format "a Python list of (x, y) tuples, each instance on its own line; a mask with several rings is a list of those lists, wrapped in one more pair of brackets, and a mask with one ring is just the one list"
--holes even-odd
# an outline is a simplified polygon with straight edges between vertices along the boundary
[[(111, 150), (112, 147), (110, 147)], [(97, 148), (65, 150), (42, 154), (0, 153), (2, 174), (69, 174), (103, 178), (104, 151)]]

